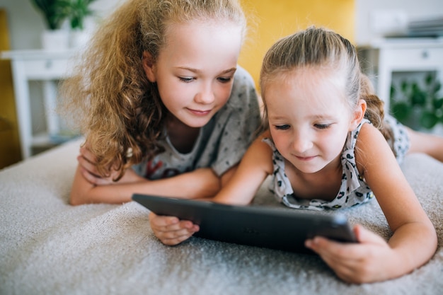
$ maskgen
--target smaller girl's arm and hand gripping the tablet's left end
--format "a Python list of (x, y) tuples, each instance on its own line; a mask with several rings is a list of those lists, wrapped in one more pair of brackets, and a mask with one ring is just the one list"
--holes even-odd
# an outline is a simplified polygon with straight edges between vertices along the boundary
[[(265, 133), (264, 136), (270, 135)], [(273, 168), (272, 150), (261, 139), (263, 136), (253, 141), (232, 177), (223, 175), (223, 187), (212, 199), (214, 202), (227, 204), (251, 202), (263, 180), (272, 173)], [(199, 227), (190, 221), (180, 221), (173, 216), (157, 216), (152, 212), (149, 214), (149, 223), (156, 237), (165, 245), (181, 243), (199, 230)]]

